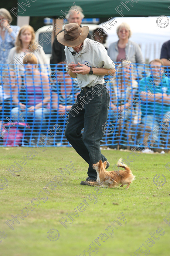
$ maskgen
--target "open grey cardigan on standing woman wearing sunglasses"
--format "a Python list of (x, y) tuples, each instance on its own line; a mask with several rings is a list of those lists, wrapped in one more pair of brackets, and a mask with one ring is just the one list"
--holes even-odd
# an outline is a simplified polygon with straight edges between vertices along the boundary
[[(117, 55), (119, 53), (117, 44), (118, 44), (118, 41), (110, 44), (107, 50), (108, 55), (113, 62), (116, 62)], [(137, 43), (129, 40), (125, 47), (125, 53), (127, 55), (128, 60), (131, 61), (132, 63), (144, 64), (142, 51)]]

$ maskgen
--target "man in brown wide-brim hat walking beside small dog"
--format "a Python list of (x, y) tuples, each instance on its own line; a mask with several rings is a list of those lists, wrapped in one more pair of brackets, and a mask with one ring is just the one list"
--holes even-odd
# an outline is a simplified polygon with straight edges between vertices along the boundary
[[(114, 75), (115, 65), (104, 46), (87, 38), (89, 27), (69, 23), (57, 40), (65, 45), (68, 74), (76, 78), (81, 89), (69, 112), (65, 136), (77, 153), (89, 164), (88, 177), (81, 185), (96, 181), (93, 164), (107, 161), (101, 154), (100, 140), (104, 135), (110, 96), (104, 86), (104, 75)], [(81, 130), (84, 128), (83, 134)], [(107, 167), (109, 167), (107, 161)]]

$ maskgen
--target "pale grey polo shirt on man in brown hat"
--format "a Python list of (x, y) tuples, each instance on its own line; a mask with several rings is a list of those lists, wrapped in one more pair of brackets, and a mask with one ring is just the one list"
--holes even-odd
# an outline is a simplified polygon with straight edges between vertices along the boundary
[[(73, 48), (69, 47), (70, 51), (73, 52)], [(76, 52), (76, 55), (73, 56), (67, 47), (65, 47), (65, 54), (67, 65), (71, 62), (75, 64), (81, 63), (92, 68), (105, 68), (111, 69), (115, 68), (114, 62), (107, 55), (107, 51), (104, 48), (103, 44), (94, 42), (91, 39), (86, 38), (83, 42), (83, 46), (79, 53)], [(80, 67), (79, 65), (77, 67)], [(68, 67), (66, 66), (68, 71)], [(80, 88), (83, 87), (92, 87), (95, 84), (104, 84), (104, 76), (99, 75), (82, 75), (77, 74), (77, 82)]]

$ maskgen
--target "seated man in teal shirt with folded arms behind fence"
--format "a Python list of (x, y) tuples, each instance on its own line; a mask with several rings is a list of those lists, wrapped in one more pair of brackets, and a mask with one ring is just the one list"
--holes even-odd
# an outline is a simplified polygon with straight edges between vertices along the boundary
[[(140, 142), (145, 145), (154, 147), (160, 146), (158, 127), (161, 128), (161, 121), (165, 120), (165, 116), (170, 114), (170, 86), (169, 78), (165, 77), (163, 71), (163, 62), (161, 59), (154, 59), (150, 63), (151, 74), (140, 80), (140, 96), (141, 96), (141, 123), (149, 126), (153, 131), (152, 136), (147, 139), (141, 137)], [(158, 126), (158, 127), (157, 127)], [(144, 134), (144, 132), (142, 132)], [(150, 144), (147, 141), (150, 140)], [(153, 142), (151, 142), (153, 141)], [(154, 144), (154, 145), (153, 145)]]

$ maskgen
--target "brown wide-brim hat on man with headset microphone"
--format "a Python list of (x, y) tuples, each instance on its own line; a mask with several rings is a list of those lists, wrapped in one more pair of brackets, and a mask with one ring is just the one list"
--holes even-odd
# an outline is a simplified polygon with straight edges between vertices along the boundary
[(69, 23), (64, 27), (64, 31), (57, 35), (57, 40), (59, 43), (75, 47), (82, 44), (89, 34), (89, 27), (80, 27), (78, 23)]

